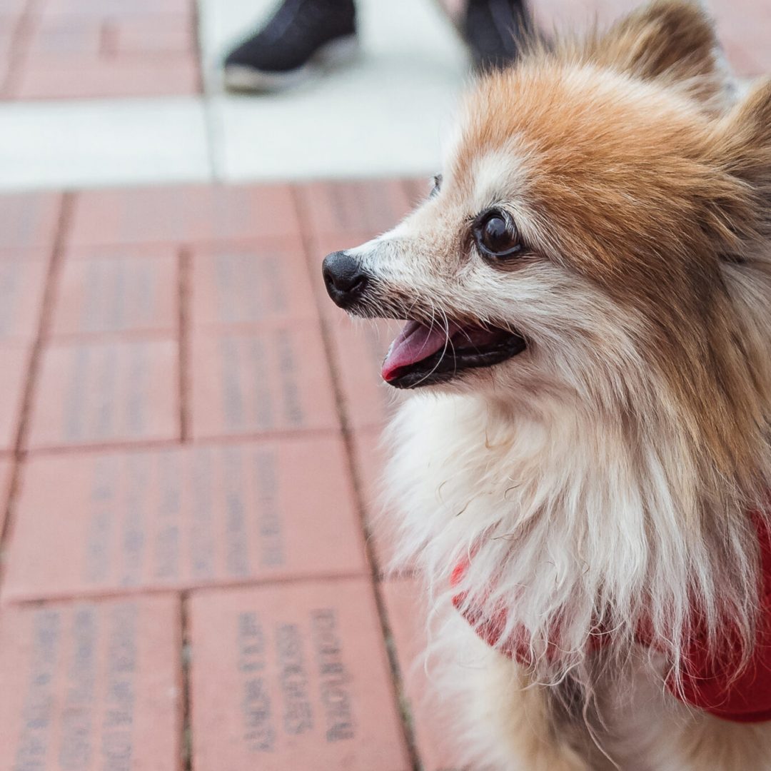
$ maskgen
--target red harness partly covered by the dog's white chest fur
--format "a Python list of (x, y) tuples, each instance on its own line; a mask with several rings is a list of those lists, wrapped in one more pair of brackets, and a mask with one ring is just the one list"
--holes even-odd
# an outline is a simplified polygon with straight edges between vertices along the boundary
[[(771, 532), (760, 517), (756, 517), (755, 521), (760, 544), (761, 591), (756, 644), (749, 663), (736, 677), (740, 655), (738, 648), (730, 645), (730, 636), (726, 635), (727, 642), (722, 650), (710, 651), (703, 636), (695, 633), (683, 650), (680, 688), (675, 689), (675, 678), (670, 678), (667, 683), (678, 699), (719, 718), (736, 722), (771, 720)], [(453, 587), (460, 584), (468, 567), (468, 560), (456, 565), (451, 578)], [(527, 633), (511, 635), (500, 643), (506, 628), (506, 609), (502, 608), (492, 618), (480, 619), (473, 609), (464, 607), (465, 599), (465, 594), (456, 594), (453, 604), (463, 612), (477, 634), (504, 655), (527, 665), (530, 662)], [(610, 641), (609, 635), (598, 635), (591, 640), (594, 648), (601, 648)], [(650, 635), (644, 631), (638, 632), (638, 642), (648, 647), (652, 645)], [(556, 646), (554, 648), (556, 650)]]

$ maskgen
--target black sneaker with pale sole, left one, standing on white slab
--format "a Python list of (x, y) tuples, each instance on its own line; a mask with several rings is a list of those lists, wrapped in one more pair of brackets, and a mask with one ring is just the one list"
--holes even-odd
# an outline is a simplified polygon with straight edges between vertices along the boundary
[(224, 83), (239, 91), (283, 89), (315, 67), (348, 61), (357, 50), (354, 0), (284, 0), (261, 30), (227, 55)]

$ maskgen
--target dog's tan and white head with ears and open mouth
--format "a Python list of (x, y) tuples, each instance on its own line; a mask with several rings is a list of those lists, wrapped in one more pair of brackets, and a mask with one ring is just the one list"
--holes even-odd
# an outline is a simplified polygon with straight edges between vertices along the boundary
[(771, 87), (736, 99), (709, 19), (657, 2), (482, 79), (425, 203), (325, 280), (407, 320), (399, 388), (710, 412), (746, 376), (726, 269), (771, 257), (769, 191)]

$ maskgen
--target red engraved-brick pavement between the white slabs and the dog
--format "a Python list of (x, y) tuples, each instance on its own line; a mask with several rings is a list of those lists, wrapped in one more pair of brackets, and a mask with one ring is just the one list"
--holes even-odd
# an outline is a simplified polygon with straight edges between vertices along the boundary
[(318, 281), (418, 187), (0, 197), (0, 771), (452, 765)]

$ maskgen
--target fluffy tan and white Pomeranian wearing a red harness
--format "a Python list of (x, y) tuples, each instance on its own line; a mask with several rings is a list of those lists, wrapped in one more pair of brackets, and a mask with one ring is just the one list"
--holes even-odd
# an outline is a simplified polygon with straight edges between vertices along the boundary
[(688, 2), (534, 43), (323, 271), (406, 320), (385, 489), (473, 768), (771, 769), (771, 82)]

